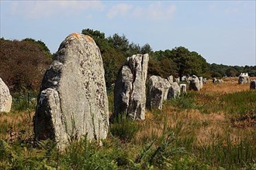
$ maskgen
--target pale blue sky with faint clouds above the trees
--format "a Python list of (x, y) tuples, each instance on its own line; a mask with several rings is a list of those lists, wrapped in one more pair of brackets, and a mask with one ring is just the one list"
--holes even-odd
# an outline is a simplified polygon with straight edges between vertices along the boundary
[(51, 53), (72, 32), (118, 33), (156, 50), (184, 46), (208, 63), (256, 65), (256, 1), (0, 0), (0, 37), (32, 38)]

